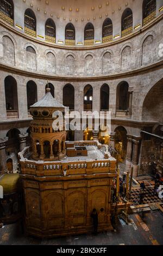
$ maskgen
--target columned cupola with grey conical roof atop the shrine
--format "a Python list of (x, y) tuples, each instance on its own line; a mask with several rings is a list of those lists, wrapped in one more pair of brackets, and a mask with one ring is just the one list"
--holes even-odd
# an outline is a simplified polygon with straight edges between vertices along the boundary
[[(57, 111), (54, 115), (54, 112)], [(31, 122), (32, 132), (32, 159), (43, 161), (59, 160), (66, 155), (66, 131), (64, 126), (65, 107), (46, 89), (45, 96), (30, 107), (33, 115)], [(57, 129), (53, 129), (53, 122), (62, 114), (62, 122)]]

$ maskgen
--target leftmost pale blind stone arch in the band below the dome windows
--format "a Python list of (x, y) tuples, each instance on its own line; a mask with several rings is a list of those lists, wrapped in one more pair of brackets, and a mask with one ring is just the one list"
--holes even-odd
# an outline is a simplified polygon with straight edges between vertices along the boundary
[(14, 42), (8, 35), (4, 35), (2, 38), (3, 45), (3, 60), (9, 65), (15, 66), (15, 46)]

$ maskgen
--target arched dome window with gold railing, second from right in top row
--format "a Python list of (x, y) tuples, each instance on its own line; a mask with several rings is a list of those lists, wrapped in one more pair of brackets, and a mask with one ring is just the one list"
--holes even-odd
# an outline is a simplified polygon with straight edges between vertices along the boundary
[(128, 35), (133, 32), (133, 12), (130, 8), (123, 11), (121, 21), (122, 36)]

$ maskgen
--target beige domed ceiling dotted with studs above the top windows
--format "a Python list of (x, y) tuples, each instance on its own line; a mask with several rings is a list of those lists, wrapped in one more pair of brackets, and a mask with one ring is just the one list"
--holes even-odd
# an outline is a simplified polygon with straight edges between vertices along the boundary
[[(20, 0), (19, 0), (20, 1)], [(76, 22), (95, 21), (131, 7), (135, 0), (22, 0), (47, 17)], [(135, 3), (136, 4), (136, 3)]]

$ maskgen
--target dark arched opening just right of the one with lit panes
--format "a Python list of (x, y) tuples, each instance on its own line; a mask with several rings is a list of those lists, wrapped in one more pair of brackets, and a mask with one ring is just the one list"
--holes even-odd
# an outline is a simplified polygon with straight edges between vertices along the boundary
[(101, 99), (101, 110), (109, 110), (109, 86), (108, 84), (103, 84), (100, 92)]

